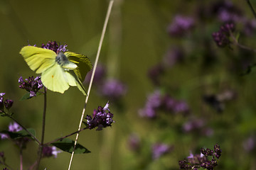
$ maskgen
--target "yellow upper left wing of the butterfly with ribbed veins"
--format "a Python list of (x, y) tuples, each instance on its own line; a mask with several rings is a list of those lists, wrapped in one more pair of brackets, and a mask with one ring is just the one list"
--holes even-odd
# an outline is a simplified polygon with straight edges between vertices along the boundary
[(20, 54), (36, 74), (45, 72), (55, 64), (56, 53), (52, 50), (41, 47), (25, 46), (21, 49)]

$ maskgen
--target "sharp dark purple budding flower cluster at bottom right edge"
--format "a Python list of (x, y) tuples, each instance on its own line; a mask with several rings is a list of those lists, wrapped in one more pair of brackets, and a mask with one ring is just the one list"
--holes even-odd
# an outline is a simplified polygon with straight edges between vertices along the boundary
[[(193, 169), (197, 170), (200, 168), (213, 170), (215, 166), (218, 165), (217, 159), (221, 156), (220, 145), (215, 144), (214, 150), (211, 149), (201, 149), (201, 154), (190, 154), (187, 159), (179, 161), (178, 164), (180, 169)], [(211, 160), (208, 160), (208, 157), (212, 157)]]

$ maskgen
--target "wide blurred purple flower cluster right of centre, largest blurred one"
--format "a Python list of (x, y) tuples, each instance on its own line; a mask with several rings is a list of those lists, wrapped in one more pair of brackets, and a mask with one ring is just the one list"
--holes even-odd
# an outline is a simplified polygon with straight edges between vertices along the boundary
[(156, 90), (147, 98), (144, 108), (139, 110), (139, 115), (146, 118), (155, 118), (157, 110), (164, 110), (171, 113), (188, 113), (189, 107), (185, 101), (178, 101), (169, 95), (161, 95)]

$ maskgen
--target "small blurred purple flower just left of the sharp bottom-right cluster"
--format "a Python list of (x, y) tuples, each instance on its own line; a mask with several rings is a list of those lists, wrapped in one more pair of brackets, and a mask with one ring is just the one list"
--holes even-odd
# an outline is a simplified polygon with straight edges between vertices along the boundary
[(170, 145), (162, 144), (162, 143), (156, 143), (152, 145), (152, 159), (159, 159), (163, 154), (167, 154), (171, 152), (173, 147)]

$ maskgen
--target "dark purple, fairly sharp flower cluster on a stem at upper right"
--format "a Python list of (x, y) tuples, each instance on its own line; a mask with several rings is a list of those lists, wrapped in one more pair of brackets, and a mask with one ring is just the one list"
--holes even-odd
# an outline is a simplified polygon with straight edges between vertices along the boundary
[(213, 33), (213, 40), (219, 47), (225, 47), (230, 45), (230, 33), (233, 33), (235, 30), (234, 23), (225, 23), (223, 26), (220, 27), (218, 32)]

